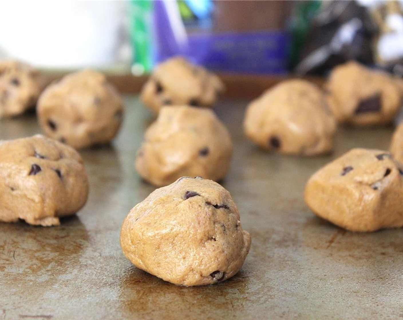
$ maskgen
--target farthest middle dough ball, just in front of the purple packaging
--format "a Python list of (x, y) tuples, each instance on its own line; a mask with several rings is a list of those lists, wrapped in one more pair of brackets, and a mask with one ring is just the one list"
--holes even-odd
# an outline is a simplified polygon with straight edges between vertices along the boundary
[(222, 91), (224, 85), (218, 76), (175, 57), (156, 66), (141, 91), (141, 99), (158, 113), (163, 105), (210, 107)]

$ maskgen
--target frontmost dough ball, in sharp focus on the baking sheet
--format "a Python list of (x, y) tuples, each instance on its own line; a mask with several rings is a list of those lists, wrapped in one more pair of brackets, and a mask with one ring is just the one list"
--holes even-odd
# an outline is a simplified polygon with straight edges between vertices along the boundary
[(231, 194), (212, 180), (182, 177), (152, 192), (123, 221), (120, 246), (138, 268), (176, 285), (231, 278), (249, 252)]

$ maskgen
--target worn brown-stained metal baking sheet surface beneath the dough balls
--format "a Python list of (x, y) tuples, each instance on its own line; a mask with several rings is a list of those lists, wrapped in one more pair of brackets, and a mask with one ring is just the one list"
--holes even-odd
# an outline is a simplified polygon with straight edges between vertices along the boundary
[[(333, 155), (266, 153), (241, 128), (245, 102), (216, 107), (235, 141), (231, 192), (252, 247), (241, 271), (205, 287), (177, 287), (135, 268), (120, 251), (129, 209), (154, 188), (133, 161), (152, 121), (136, 97), (109, 146), (81, 151), (90, 194), (60, 227), (0, 224), (1, 319), (403, 318), (403, 230), (345, 232), (307, 209), (303, 188), (352, 147), (387, 149), (393, 128), (342, 128)], [(0, 121), (0, 138), (40, 132), (35, 116)]]

